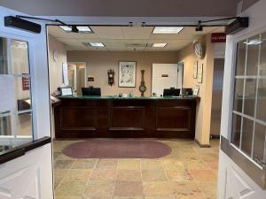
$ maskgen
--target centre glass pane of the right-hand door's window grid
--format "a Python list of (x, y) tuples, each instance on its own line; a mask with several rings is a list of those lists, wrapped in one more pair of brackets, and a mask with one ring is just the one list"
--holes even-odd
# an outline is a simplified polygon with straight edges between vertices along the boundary
[(246, 79), (244, 114), (254, 117), (256, 79)]

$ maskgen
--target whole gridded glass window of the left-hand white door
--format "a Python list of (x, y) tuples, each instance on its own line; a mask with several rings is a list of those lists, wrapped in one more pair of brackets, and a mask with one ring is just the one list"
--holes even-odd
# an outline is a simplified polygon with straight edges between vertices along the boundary
[(8, 140), (4, 139), (4, 145), (13, 147), (30, 142), (33, 139), (33, 119), (27, 42), (0, 38), (0, 78), (3, 88), (14, 83), (14, 87), (8, 88), (14, 96), (3, 89), (0, 93), (4, 104), (0, 112), (0, 135), (9, 136)]

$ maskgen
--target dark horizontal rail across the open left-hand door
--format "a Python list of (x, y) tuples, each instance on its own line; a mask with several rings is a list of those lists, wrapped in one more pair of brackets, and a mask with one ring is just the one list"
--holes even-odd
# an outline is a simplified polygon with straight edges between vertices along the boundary
[(18, 157), (24, 156), (28, 151), (42, 147), (45, 144), (51, 143), (51, 137), (43, 137), (33, 142), (22, 144), (12, 149), (7, 149), (0, 152), (0, 165), (9, 162)]

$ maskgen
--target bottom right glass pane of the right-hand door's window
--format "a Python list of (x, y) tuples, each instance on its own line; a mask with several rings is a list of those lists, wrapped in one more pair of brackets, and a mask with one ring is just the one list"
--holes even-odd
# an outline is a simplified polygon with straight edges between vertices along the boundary
[(254, 133), (254, 156), (258, 156), (263, 160), (264, 156), (264, 144), (265, 144), (266, 126), (262, 126), (258, 123), (255, 125)]

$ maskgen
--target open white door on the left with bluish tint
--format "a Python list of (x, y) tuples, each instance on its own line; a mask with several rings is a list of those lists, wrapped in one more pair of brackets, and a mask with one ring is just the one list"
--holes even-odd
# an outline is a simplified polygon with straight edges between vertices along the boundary
[(47, 142), (23, 148), (16, 158), (0, 165), (0, 198), (52, 199), (45, 25), (37, 22), (42, 25), (40, 34), (4, 27), (4, 17), (15, 15), (23, 13), (0, 6), (0, 145)]

